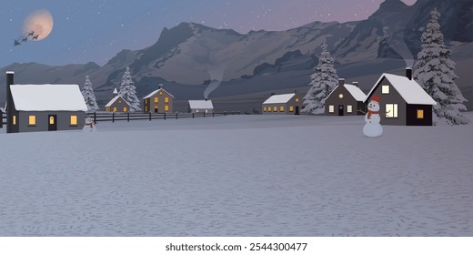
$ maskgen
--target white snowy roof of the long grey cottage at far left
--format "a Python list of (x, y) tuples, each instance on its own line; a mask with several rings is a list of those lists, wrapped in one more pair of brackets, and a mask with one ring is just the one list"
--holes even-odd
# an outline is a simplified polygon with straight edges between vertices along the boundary
[(87, 106), (79, 86), (12, 85), (16, 110), (20, 111), (86, 111)]

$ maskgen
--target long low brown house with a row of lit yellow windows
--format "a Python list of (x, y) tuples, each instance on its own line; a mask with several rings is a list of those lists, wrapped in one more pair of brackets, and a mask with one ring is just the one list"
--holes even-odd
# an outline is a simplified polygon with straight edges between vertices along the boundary
[(275, 95), (263, 102), (263, 114), (299, 115), (302, 100), (297, 93)]

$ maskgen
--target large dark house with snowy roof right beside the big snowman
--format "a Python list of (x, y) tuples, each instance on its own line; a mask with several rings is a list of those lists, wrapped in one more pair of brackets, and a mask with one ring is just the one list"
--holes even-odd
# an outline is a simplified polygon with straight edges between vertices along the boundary
[(367, 94), (365, 103), (379, 97), (382, 125), (432, 126), (433, 106), (437, 102), (412, 79), (412, 69), (406, 76), (383, 74)]

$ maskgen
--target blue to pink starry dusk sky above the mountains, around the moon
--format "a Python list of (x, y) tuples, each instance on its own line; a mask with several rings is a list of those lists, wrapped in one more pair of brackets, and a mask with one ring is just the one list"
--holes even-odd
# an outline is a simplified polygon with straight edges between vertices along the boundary
[[(195, 22), (215, 28), (286, 30), (314, 21), (363, 20), (384, 0), (5, 0), (0, 7), (0, 66), (36, 62), (104, 65), (122, 49), (153, 45), (164, 27)], [(403, 0), (412, 5), (416, 0)], [(54, 17), (50, 36), (13, 46), (30, 13)]]

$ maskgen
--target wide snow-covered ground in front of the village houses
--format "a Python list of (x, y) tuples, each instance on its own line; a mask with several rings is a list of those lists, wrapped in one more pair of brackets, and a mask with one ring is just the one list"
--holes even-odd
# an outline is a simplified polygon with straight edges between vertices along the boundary
[[(469, 114), (473, 119), (473, 115)], [(473, 125), (227, 116), (0, 133), (1, 236), (473, 236)]]

